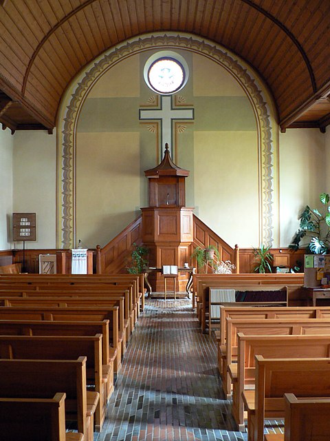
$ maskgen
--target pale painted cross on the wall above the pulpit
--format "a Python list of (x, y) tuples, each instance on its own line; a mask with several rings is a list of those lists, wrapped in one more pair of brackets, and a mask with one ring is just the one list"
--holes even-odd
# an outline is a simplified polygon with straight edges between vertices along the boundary
[(161, 149), (168, 143), (173, 158), (173, 121), (194, 119), (194, 109), (173, 107), (172, 95), (161, 95), (159, 109), (140, 109), (139, 119), (160, 121)]

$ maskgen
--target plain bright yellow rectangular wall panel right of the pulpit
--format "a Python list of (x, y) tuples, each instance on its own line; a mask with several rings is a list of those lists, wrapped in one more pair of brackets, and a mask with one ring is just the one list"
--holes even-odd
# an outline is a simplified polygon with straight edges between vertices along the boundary
[(195, 132), (197, 215), (232, 247), (258, 243), (255, 132)]

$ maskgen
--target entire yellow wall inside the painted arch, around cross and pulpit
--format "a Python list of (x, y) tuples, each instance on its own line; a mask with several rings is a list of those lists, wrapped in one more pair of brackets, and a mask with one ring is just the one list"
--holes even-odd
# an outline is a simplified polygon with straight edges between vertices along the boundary
[[(76, 138), (76, 239), (106, 245), (147, 203), (144, 170), (155, 167), (159, 139), (138, 111), (155, 96), (143, 79), (155, 50), (114, 65), (94, 84), (80, 112)], [(190, 170), (186, 205), (234, 246), (256, 245), (258, 142), (252, 105), (241, 85), (221, 65), (179, 50), (190, 77), (178, 92), (195, 120), (175, 126), (173, 160)], [(125, 86), (127, 85), (127, 87)], [(164, 150), (164, 146), (162, 148)], [(87, 178), (88, 176), (88, 178)], [(245, 192), (241, 196), (242, 182)], [(229, 191), (228, 191), (229, 190)], [(240, 199), (240, 201), (238, 201)], [(242, 210), (252, 215), (241, 229)]]

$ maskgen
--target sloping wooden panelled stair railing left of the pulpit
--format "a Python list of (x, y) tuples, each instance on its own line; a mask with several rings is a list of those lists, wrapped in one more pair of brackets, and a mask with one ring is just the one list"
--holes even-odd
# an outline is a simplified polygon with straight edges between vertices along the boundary
[(126, 262), (132, 252), (133, 243), (142, 243), (142, 216), (133, 220), (105, 247), (96, 247), (97, 274), (118, 274), (127, 272)]

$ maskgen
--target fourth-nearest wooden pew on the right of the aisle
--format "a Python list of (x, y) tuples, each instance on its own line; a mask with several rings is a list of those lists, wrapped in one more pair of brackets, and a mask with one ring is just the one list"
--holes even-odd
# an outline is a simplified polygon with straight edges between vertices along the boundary
[(231, 381), (227, 367), (237, 360), (237, 333), (241, 332), (247, 336), (330, 334), (330, 320), (318, 318), (252, 320), (228, 317), (226, 324), (228, 338), (225, 345), (218, 346), (218, 368), (222, 378), (223, 392), (228, 400), (230, 400)]

